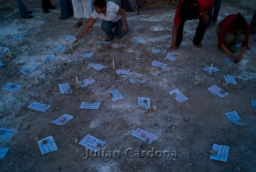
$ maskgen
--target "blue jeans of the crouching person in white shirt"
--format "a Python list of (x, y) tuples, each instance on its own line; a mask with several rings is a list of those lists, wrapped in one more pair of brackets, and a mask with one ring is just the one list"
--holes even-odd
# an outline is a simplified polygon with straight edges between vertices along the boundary
[[(128, 28), (126, 22), (125, 22), (125, 25), (126, 25), (126, 27), (127, 27), (127, 32), (126, 32), (126, 33), (128, 33), (128, 32), (129, 32), (129, 28)], [(103, 31), (106, 33), (106, 35), (107, 35), (109, 38), (111, 38), (111, 39), (114, 38), (115, 35), (117, 35), (117, 36), (122, 36), (122, 35), (126, 34), (126, 33), (124, 33), (124, 32), (122, 31), (122, 27), (123, 27), (123, 21), (122, 21), (121, 18), (118, 20), (118, 22), (111, 22), (111, 21), (104, 21), (104, 20), (103, 20), (103, 22), (102, 22), (102, 24), (101, 24), (101, 28), (102, 28)], [(113, 28), (116, 28), (116, 29), (115, 29), (115, 33), (113, 33), (113, 31), (111, 30), (111, 29), (113, 29)]]

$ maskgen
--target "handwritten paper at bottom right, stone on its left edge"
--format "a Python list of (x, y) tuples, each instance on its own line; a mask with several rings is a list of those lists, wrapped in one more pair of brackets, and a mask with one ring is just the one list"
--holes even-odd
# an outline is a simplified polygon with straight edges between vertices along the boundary
[(213, 144), (212, 150), (215, 150), (216, 155), (210, 155), (210, 159), (227, 162), (229, 146)]

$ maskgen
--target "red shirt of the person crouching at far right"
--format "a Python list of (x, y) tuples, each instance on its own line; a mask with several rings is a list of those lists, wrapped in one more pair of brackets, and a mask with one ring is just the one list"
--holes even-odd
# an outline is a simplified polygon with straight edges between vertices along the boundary
[[(224, 45), (224, 39), (225, 39), (225, 35), (227, 32), (229, 33), (237, 33), (236, 31), (234, 31), (233, 29), (233, 20), (237, 18), (237, 14), (230, 14), (228, 16), (226, 16), (220, 23), (219, 26), (221, 27), (220, 33), (218, 35), (218, 44), (219, 47), (221, 47), (222, 45)], [(249, 24), (246, 22), (246, 29), (243, 30), (243, 32), (245, 34), (245, 39), (242, 42), (242, 47), (248, 47), (248, 42), (249, 42), (249, 34), (250, 34), (250, 26)]]

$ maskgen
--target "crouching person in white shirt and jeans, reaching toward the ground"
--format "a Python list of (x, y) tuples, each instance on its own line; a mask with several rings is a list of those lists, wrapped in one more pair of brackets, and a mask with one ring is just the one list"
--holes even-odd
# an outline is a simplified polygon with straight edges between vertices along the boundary
[[(122, 36), (129, 32), (126, 17), (124, 11), (115, 3), (105, 0), (95, 0), (94, 3), (94, 11), (92, 13), (92, 17), (89, 20), (89, 23), (83, 27), (81, 33), (76, 36), (76, 39), (80, 39), (95, 23), (96, 19), (99, 18), (102, 21), (101, 28), (106, 33), (106, 41), (110, 41), (117, 35), (118, 39), (121, 39)], [(113, 33), (112, 29), (115, 29), (115, 33)]]

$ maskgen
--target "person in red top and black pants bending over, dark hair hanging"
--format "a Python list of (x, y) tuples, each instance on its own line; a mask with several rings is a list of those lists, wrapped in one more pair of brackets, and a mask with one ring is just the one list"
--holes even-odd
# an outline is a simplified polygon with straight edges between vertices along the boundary
[(197, 18), (199, 18), (199, 24), (193, 44), (198, 48), (202, 47), (201, 41), (209, 19), (207, 13), (213, 4), (214, 0), (180, 0), (174, 17), (173, 44), (169, 47), (170, 50), (180, 46), (185, 22)]

